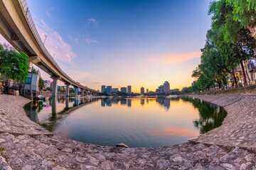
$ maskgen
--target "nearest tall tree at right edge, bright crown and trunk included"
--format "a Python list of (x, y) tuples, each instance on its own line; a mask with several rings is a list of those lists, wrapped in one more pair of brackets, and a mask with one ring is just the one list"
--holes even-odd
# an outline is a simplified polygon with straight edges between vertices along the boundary
[[(251, 2), (251, 4), (250, 4)], [(245, 11), (245, 6), (249, 10)], [(239, 16), (238, 13), (243, 13)], [(220, 31), (223, 40), (220, 41), (220, 49), (228, 47), (231, 53), (226, 60), (230, 61), (233, 66), (241, 64), (242, 74), (245, 78), (245, 69), (242, 61), (250, 59), (255, 55), (256, 40), (252, 38), (248, 26), (256, 26), (255, 2), (251, 0), (220, 0), (212, 1), (210, 4), (209, 14), (212, 15), (213, 30)], [(240, 19), (238, 19), (240, 17)], [(225, 49), (227, 50), (227, 49)], [(223, 50), (223, 51), (225, 51)]]

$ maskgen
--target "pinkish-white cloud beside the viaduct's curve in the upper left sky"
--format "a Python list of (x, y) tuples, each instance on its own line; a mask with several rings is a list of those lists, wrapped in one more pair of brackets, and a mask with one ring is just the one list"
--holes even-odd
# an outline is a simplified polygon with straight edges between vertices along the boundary
[(55, 59), (73, 64), (72, 59), (77, 57), (77, 55), (72, 51), (72, 47), (63, 40), (61, 35), (53, 28), (50, 28), (43, 20), (38, 22), (38, 18), (35, 18), (35, 23), (43, 42), (46, 39), (45, 46), (48, 52), (51, 55), (55, 54)]

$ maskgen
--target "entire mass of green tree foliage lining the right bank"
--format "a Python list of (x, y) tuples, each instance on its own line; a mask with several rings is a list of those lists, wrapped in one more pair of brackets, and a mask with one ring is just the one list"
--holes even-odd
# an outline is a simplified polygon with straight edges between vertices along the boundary
[[(208, 14), (212, 16), (212, 28), (206, 35), (206, 45), (201, 50), (201, 64), (193, 70), (196, 84), (191, 91), (201, 91), (210, 86), (227, 84), (228, 73), (242, 61), (255, 56), (256, 40), (250, 28), (256, 26), (255, 0), (211, 1)], [(236, 82), (236, 79), (235, 79)], [(246, 82), (246, 78), (245, 78)]]

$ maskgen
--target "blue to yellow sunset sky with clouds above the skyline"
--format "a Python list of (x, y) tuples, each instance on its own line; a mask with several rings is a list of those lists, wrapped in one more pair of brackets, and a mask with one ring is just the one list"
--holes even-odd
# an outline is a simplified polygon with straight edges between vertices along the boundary
[(210, 0), (27, 1), (54, 60), (92, 89), (191, 86), (210, 29)]

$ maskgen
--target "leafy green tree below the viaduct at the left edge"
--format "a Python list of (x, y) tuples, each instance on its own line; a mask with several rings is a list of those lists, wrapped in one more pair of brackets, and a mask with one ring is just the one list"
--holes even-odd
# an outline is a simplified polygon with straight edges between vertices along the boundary
[(9, 45), (0, 44), (0, 73), (6, 79), (25, 81), (28, 76), (28, 55)]

